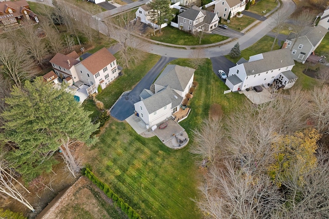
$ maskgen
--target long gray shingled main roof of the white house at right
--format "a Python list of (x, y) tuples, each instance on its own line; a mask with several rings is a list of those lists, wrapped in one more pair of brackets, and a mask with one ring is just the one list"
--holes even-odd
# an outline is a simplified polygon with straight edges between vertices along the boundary
[(244, 63), (246, 74), (254, 75), (273, 69), (279, 69), (291, 65), (295, 65), (290, 49), (278, 49), (270, 52), (264, 52), (263, 59)]

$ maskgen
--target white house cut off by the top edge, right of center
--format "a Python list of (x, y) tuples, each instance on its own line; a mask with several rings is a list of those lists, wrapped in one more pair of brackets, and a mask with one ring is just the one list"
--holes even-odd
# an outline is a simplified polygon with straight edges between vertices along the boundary
[(218, 17), (228, 19), (231, 12), (231, 17), (235, 16), (237, 12), (242, 12), (246, 8), (246, 0), (216, 0), (214, 13)]

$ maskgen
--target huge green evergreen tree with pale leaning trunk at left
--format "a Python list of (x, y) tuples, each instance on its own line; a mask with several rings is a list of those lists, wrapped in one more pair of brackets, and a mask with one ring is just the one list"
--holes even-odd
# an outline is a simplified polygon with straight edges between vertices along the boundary
[(79, 171), (70, 146), (77, 142), (92, 143), (90, 134), (98, 124), (90, 123), (89, 112), (74, 100), (74, 96), (43, 82), (27, 81), (24, 87), (13, 87), (6, 98), (8, 107), (1, 114), (6, 121), (1, 139), (11, 148), (7, 161), (11, 168), (31, 180), (43, 171), (50, 171), (51, 155), (59, 148), (70, 172)]

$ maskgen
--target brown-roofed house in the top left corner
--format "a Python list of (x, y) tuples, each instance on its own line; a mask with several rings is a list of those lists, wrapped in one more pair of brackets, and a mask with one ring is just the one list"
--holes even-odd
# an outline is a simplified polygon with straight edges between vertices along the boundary
[(38, 16), (31, 11), (25, 0), (0, 2), (0, 22), (4, 26), (19, 24), (22, 21), (39, 23)]

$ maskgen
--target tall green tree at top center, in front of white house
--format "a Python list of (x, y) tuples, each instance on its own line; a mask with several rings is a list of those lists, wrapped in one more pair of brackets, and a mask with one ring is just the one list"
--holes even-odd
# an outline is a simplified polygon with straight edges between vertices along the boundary
[(159, 25), (159, 33), (161, 33), (161, 25), (171, 20), (172, 10), (169, 7), (169, 0), (153, 0), (149, 4), (151, 21), (154, 24)]

